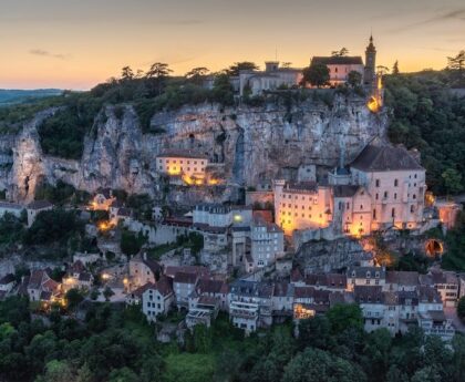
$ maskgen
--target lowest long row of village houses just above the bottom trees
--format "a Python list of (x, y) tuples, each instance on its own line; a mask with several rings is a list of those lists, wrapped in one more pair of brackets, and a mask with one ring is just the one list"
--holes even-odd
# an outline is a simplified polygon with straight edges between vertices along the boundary
[(444, 307), (465, 296), (465, 275), (432, 270), (388, 271), (382, 267), (348, 268), (345, 273), (302, 275), (299, 269), (280, 281), (237, 279), (228, 283), (199, 266), (163, 268), (138, 255), (131, 260), (126, 303), (142, 306), (147, 320), (169, 310), (185, 310), (188, 328), (209, 327), (218, 311), (247, 333), (285, 319), (299, 320), (326, 313), (340, 303), (358, 303), (364, 328), (388, 329), (393, 335), (411, 326), (450, 340), (455, 329)]

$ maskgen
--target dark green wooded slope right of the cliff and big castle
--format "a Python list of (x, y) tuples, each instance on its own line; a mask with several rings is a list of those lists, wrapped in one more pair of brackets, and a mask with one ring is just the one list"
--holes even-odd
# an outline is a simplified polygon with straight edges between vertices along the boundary
[(421, 152), (428, 188), (440, 195), (462, 192), (465, 179), (465, 102), (452, 84), (452, 71), (385, 78), (390, 140)]

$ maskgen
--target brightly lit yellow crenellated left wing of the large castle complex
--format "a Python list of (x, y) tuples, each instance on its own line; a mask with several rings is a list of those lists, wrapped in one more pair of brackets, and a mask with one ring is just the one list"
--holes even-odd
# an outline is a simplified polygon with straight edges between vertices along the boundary
[(275, 182), (276, 224), (286, 235), (294, 229), (324, 228), (332, 220), (331, 187), (314, 182)]

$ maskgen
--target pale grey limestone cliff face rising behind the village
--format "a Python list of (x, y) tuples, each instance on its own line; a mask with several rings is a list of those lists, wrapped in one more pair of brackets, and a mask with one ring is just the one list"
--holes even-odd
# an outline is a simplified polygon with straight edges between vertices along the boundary
[[(331, 107), (310, 100), (292, 106), (184, 106), (153, 116), (158, 134), (142, 133), (132, 106), (106, 106), (85, 137), (82, 159), (69, 161), (40, 147), (37, 127), (53, 113), (39, 113), (14, 140), (3, 185), (14, 200), (30, 200), (42, 178), (87, 192), (112, 187), (156, 195), (155, 157), (167, 148), (207, 154), (227, 184), (256, 186), (302, 163), (334, 166), (342, 153), (348, 162), (373, 137), (384, 137), (386, 125), (385, 115), (370, 113), (363, 100), (342, 96)], [(0, 147), (7, 138), (0, 137)], [(11, 162), (8, 155), (2, 159)]]

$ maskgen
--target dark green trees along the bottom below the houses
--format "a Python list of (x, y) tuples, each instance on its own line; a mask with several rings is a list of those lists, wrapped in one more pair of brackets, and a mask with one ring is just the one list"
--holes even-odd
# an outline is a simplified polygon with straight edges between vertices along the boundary
[[(32, 320), (23, 298), (0, 302), (0, 378), (66, 382), (300, 382), (445, 381), (465, 372), (465, 338), (452, 348), (420, 330), (392, 339), (385, 329), (365, 333), (360, 310), (300, 324), (277, 326), (244, 338), (220, 317), (210, 329), (195, 327), (184, 345), (155, 341), (137, 308), (94, 303), (83, 321), (51, 314), (50, 327)], [(330, 311), (331, 312), (331, 311)], [(352, 317), (342, 324), (344, 317)], [(356, 316), (359, 317), (356, 319)]]

